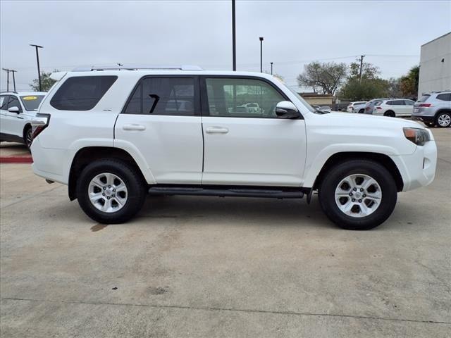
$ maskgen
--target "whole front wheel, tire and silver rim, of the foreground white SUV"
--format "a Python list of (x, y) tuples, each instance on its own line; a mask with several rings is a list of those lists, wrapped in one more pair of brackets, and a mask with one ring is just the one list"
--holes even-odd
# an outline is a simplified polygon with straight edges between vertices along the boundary
[(369, 230), (383, 223), (397, 200), (395, 180), (377, 162), (351, 160), (330, 169), (319, 188), (328, 218), (348, 230)]

